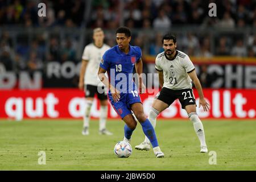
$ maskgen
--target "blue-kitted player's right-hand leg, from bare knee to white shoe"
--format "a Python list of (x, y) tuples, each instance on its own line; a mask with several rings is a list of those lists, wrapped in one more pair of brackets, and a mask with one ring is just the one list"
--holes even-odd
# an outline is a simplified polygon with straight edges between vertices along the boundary
[(140, 102), (137, 102), (131, 105), (131, 109), (133, 110), (134, 115), (138, 119), (139, 123), (141, 123), (144, 134), (150, 140), (156, 158), (163, 158), (164, 154), (160, 150), (154, 127), (151, 125), (150, 121), (146, 118), (146, 115), (144, 114), (144, 111), (143, 111), (142, 104)]

